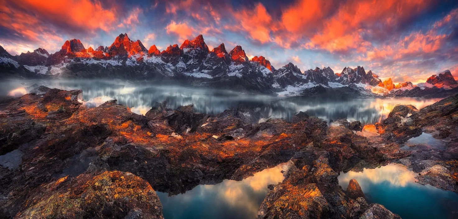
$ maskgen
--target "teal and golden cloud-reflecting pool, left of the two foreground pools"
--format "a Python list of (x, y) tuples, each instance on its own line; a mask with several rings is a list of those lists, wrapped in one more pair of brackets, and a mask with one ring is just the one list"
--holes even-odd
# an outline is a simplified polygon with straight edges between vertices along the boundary
[(165, 219), (253, 219), (267, 194), (267, 186), (283, 181), (281, 170), (288, 163), (255, 173), (242, 181), (224, 180), (216, 185), (199, 185), (168, 197), (157, 192), (164, 207)]

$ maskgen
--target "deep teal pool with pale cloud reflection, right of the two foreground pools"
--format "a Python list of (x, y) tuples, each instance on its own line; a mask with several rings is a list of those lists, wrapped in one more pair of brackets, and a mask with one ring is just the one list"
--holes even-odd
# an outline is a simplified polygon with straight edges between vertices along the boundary
[(380, 203), (403, 219), (456, 218), (458, 195), (436, 187), (415, 183), (414, 172), (400, 164), (341, 173), (342, 188), (356, 179), (371, 203)]

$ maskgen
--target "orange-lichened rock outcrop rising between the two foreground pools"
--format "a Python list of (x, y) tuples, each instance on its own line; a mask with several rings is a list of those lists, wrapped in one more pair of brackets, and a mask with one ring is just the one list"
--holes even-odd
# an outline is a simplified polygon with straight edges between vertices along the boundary
[(330, 159), (329, 153), (319, 150), (296, 155), (284, 181), (269, 186), (258, 219), (359, 218), (370, 212), (377, 218), (400, 218), (382, 205), (370, 206), (362, 197), (346, 195)]

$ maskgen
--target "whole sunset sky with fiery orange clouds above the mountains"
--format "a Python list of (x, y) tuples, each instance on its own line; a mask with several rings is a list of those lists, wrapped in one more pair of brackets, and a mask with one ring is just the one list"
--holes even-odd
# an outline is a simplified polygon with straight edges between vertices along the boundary
[(393, 82), (458, 79), (456, 0), (0, 0), (0, 45), (12, 55), (65, 40), (109, 46), (120, 33), (165, 49), (202, 34), (210, 49), (302, 71), (364, 66)]

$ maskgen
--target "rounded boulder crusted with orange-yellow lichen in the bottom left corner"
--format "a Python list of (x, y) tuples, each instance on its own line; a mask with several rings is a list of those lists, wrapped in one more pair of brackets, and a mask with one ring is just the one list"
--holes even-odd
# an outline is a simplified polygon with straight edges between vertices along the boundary
[(107, 218), (107, 212), (124, 218), (131, 211), (142, 218), (164, 218), (156, 192), (136, 175), (105, 171), (93, 177), (82, 174), (67, 178), (42, 186), (41, 195), (16, 218)]

